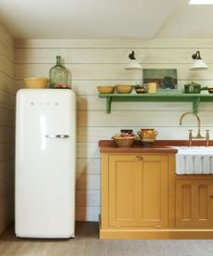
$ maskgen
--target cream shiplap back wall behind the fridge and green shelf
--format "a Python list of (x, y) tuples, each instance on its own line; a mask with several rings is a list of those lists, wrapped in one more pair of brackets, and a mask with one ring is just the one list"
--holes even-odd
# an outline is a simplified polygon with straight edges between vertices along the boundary
[[(209, 70), (192, 71), (192, 54), (201, 51)], [(154, 127), (158, 139), (187, 139), (189, 127), (195, 128), (193, 117), (180, 127), (184, 111), (190, 103), (113, 103), (106, 114), (106, 101), (97, 97), (100, 84), (136, 83), (141, 71), (124, 70), (128, 55), (148, 69), (178, 69), (179, 88), (195, 81), (213, 86), (213, 40), (24, 40), (15, 46), (15, 80), (18, 86), (27, 76), (47, 76), (56, 55), (65, 59), (71, 72), (73, 90), (78, 96), (77, 154), (77, 219), (98, 220), (100, 207), (100, 163), (98, 140), (110, 139), (120, 128), (130, 127), (136, 133), (142, 127)], [(213, 103), (201, 103), (199, 115), (202, 132), (210, 129), (213, 136)], [(70, 117), (71, 118), (71, 117)]]

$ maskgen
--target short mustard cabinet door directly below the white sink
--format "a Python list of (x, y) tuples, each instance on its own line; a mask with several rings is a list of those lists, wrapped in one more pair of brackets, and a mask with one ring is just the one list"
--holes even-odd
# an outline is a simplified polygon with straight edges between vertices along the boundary
[(213, 181), (176, 181), (176, 226), (213, 227)]

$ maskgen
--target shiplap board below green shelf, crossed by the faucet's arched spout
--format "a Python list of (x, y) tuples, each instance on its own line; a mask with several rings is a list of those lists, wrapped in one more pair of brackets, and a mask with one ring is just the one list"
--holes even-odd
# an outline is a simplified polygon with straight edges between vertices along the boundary
[[(160, 104), (160, 103), (159, 103)], [(78, 126), (179, 126), (184, 111), (78, 111)], [(200, 111), (202, 126), (213, 124), (212, 111)], [(116, 121), (116, 122), (115, 122)], [(194, 125), (195, 118), (186, 116), (182, 125)]]

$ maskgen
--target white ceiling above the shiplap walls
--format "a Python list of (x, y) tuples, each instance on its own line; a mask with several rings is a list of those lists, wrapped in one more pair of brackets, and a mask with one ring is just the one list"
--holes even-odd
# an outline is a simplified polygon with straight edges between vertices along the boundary
[(213, 6), (189, 0), (0, 0), (15, 38), (152, 39), (213, 37)]

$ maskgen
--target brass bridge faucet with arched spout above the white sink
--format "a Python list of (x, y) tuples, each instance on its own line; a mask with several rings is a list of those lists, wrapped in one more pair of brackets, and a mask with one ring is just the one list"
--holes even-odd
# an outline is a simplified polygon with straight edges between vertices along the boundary
[(206, 139), (206, 147), (207, 147), (208, 143), (209, 143), (209, 130), (206, 130), (207, 131), (206, 136), (202, 136), (200, 134), (200, 118), (198, 117), (197, 114), (194, 114), (193, 112), (183, 113), (181, 118), (180, 118), (180, 125), (182, 125), (182, 119), (186, 115), (193, 115), (196, 118), (196, 121), (197, 121), (197, 134), (195, 136), (193, 136), (193, 130), (189, 130), (189, 147), (192, 146), (193, 139)]

